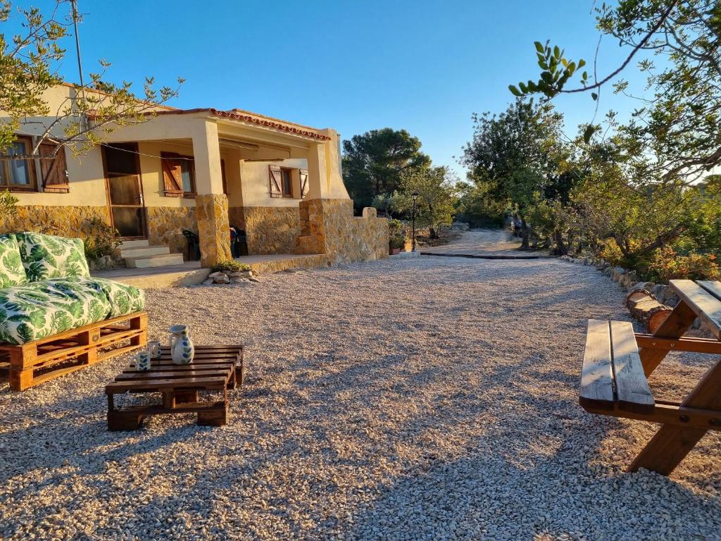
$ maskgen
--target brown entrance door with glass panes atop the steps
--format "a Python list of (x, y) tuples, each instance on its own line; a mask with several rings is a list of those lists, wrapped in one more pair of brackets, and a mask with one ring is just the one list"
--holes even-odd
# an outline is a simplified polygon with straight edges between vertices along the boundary
[(112, 226), (118, 229), (120, 236), (125, 239), (146, 238), (138, 145), (135, 143), (103, 145), (102, 157)]

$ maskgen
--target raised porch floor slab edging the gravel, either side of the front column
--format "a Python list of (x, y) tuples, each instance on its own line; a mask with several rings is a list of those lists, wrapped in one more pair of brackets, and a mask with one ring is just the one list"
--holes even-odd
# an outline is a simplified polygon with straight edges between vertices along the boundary
[[(328, 258), (323, 254), (269, 254), (246, 255), (235, 258), (252, 268), (256, 274), (270, 274), (284, 271), (287, 268), (319, 268), (327, 265)], [(109, 278), (131, 286), (143, 288), (194, 286), (202, 283), (208, 274), (209, 268), (203, 268), (200, 261), (186, 261), (177, 265), (151, 268), (119, 268), (112, 271), (94, 271), (92, 276)]]

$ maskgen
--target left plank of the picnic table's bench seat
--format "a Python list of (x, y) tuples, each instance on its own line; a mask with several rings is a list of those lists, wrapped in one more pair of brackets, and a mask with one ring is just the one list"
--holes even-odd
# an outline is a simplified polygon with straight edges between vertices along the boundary
[(614, 409), (609, 322), (588, 320), (579, 402), (584, 408)]

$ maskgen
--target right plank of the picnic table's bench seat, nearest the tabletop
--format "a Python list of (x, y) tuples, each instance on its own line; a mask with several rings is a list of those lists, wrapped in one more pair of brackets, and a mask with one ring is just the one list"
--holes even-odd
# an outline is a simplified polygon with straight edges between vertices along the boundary
[(611, 349), (614, 355), (616, 400), (619, 409), (635, 413), (653, 413), (655, 401), (643, 373), (631, 323), (611, 322)]

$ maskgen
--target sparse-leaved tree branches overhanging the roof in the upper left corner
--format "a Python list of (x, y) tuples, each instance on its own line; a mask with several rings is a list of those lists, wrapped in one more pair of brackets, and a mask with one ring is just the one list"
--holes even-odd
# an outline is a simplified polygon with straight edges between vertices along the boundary
[[(100, 61), (101, 72), (90, 74), (89, 84), (74, 84), (74, 92), (58, 110), (50, 110), (43, 92), (61, 84), (59, 63), (66, 50), (61, 47), (68, 28), (80, 21), (79, 14), (68, 0), (56, 0), (47, 16), (36, 7), (19, 9), (24, 33), (8, 38), (0, 34), (0, 154), (5, 154), (17, 138), (20, 126), (40, 126), (35, 138), (32, 157), (53, 158), (55, 154), (40, 156), (40, 144), (56, 144), (56, 152), (67, 146), (74, 154), (82, 154), (102, 141), (102, 136), (120, 126), (141, 123), (159, 105), (177, 96), (182, 79), (174, 89), (154, 87), (154, 79), (146, 78), (141, 97), (132, 90), (131, 82), (115, 85), (104, 82), (110, 66)], [(0, 0), (0, 22), (8, 22), (13, 13), (9, 0)], [(98, 89), (100, 90), (98, 92)], [(45, 123), (32, 120), (50, 117)], [(5, 155), (9, 159), (27, 159), (27, 155)]]

